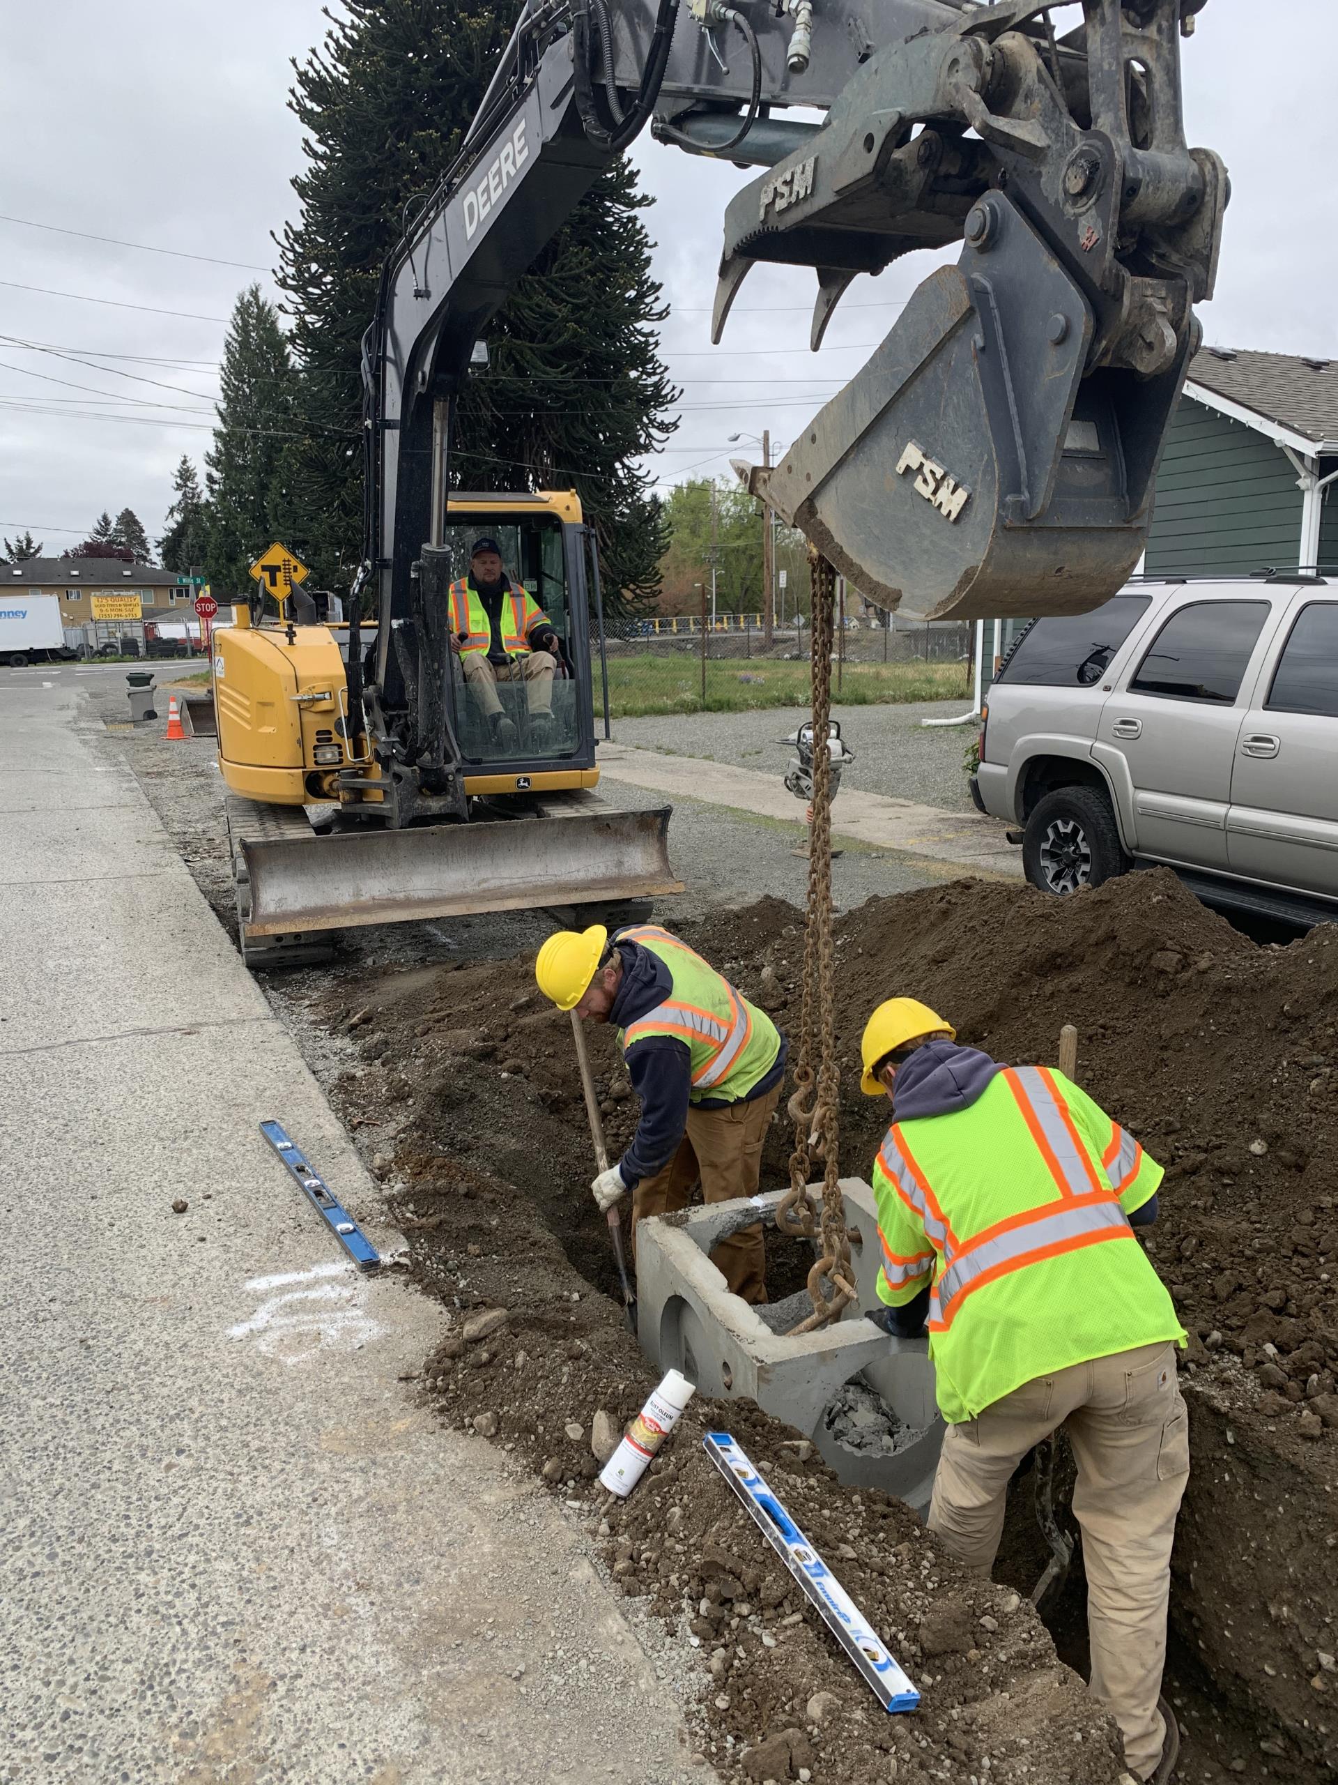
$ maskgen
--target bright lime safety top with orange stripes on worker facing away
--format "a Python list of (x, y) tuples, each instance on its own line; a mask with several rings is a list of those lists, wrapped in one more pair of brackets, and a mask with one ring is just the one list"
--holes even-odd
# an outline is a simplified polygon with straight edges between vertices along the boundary
[(1024, 1382), (1185, 1339), (1127, 1216), (1161, 1167), (1044, 1066), (1004, 1067), (970, 1105), (894, 1123), (874, 1166), (892, 1307), (929, 1292), (929, 1357), (949, 1423)]

